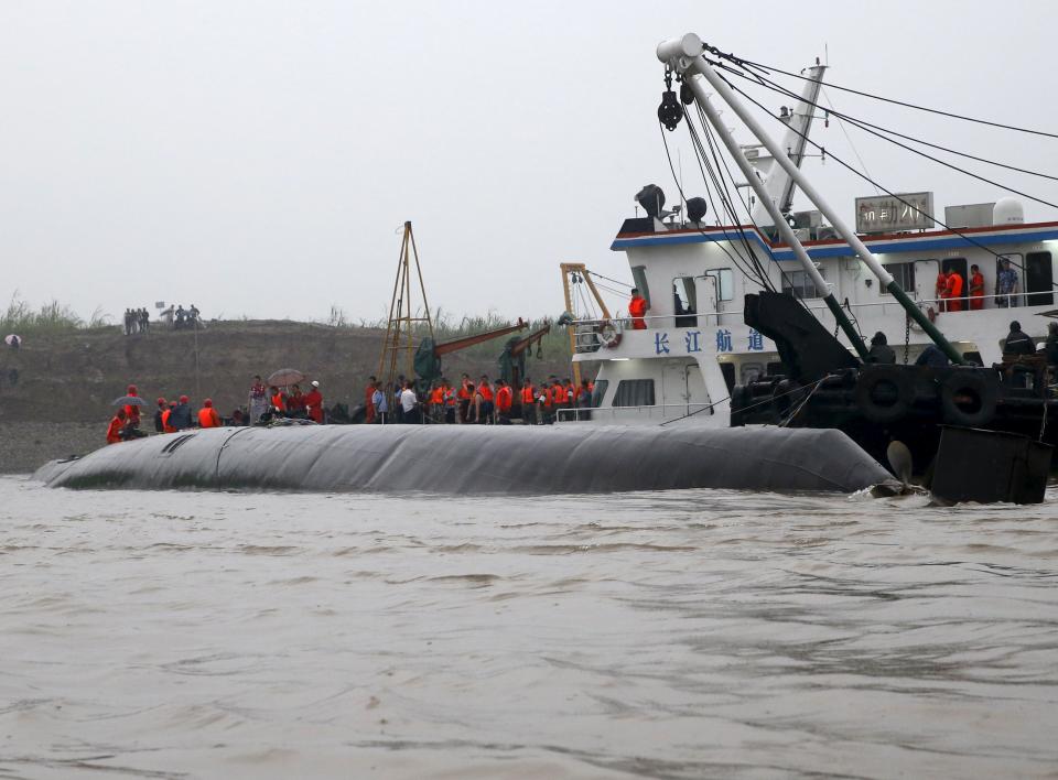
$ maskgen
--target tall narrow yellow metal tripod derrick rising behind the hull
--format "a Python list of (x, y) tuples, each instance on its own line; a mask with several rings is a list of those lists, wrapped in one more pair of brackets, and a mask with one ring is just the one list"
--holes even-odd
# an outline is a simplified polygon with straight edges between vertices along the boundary
[[(414, 277), (419, 284), (419, 294), (422, 296), (422, 316), (418, 316), (412, 304), (412, 263)], [(415, 237), (411, 231), (411, 223), (404, 223), (404, 236), (400, 242), (400, 254), (397, 258), (397, 278), (393, 280), (393, 294), (389, 302), (389, 319), (386, 323), (386, 340), (382, 343), (382, 354), (378, 359), (378, 378), (386, 387), (391, 387), (397, 379), (398, 368), (403, 354), (403, 373), (408, 379), (414, 378), (414, 331), (418, 323), (425, 323), (429, 337), (433, 338), (433, 321), (430, 318), (430, 304), (427, 302), (427, 289), (422, 283), (422, 268), (419, 264), (419, 250), (415, 247)]]

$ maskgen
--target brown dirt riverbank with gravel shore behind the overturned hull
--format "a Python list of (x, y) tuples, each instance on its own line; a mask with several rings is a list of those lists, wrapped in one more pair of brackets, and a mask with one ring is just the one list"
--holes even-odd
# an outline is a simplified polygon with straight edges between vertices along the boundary
[[(129, 383), (151, 401), (184, 393), (197, 405), (212, 398), (227, 415), (246, 403), (255, 373), (291, 367), (320, 380), (326, 405), (355, 405), (377, 371), (384, 337), (374, 328), (229, 322), (197, 334), (155, 328), (125, 336), (102, 328), (28, 336), (18, 350), (0, 345), (0, 472), (29, 472), (102, 444), (110, 401)], [(505, 340), (445, 356), (445, 372), (496, 376)], [(533, 359), (529, 373), (566, 376), (568, 356)]]

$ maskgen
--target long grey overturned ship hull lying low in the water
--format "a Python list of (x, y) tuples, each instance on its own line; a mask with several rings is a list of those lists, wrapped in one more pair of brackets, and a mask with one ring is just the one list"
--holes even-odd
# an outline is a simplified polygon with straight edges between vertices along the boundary
[(51, 487), (446, 494), (728, 488), (851, 492), (890, 479), (844, 433), (781, 427), (224, 427), (102, 447)]

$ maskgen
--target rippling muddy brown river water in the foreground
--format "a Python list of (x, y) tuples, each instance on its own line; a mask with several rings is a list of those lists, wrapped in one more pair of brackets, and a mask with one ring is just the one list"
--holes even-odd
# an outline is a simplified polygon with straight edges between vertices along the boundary
[(0, 778), (1055, 777), (1056, 507), (0, 477)]

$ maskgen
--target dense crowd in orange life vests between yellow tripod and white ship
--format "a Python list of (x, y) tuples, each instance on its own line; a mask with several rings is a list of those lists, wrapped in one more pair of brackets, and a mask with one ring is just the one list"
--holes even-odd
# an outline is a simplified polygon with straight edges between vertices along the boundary
[(392, 384), (369, 377), (364, 391), (365, 422), (370, 424), (510, 425), (551, 424), (563, 409), (590, 409), (592, 382), (575, 386), (571, 379), (549, 377), (535, 384), (529, 378), (520, 388), (504, 379), (474, 382), (464, 373), (456, 387), (442, 378), (417, 391), (414, 382), (400, 376)]

